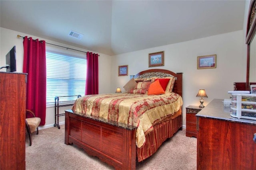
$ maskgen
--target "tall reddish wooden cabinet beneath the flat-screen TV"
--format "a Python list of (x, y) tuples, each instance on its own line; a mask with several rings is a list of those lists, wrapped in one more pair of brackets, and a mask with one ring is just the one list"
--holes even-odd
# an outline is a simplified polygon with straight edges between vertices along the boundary
[(25, 170), (26, 76), (0, 72), (1, 170)]

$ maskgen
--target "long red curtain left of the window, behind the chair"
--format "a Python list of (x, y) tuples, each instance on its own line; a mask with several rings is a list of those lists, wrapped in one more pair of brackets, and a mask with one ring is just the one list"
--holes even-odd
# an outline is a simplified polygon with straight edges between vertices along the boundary
[(23, 72), (27, 76), (26, 109), (34, 111), (45, 124), (46, 116), (46, 51), (45, 41), (24, 37)]

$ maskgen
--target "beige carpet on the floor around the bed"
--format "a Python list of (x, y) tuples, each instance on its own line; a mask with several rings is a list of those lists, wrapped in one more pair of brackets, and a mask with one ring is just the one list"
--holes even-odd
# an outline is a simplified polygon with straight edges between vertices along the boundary
[[(26, 170), (113, 170), (112, 166), (88, 156), (74, 145), (64, 144), (64, 125), (33, 133), (32, 146), (26, 136)], [(178, 131), (150, 158), (139, 162), (138, 170), (196, 170), (196, 138)]]

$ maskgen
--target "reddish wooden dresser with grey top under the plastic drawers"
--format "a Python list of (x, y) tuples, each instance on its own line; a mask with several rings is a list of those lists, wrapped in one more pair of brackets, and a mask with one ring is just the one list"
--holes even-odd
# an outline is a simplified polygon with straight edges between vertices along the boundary
[(255, 170), (256, 121), (230, 116), (214, 99), (197, 117), (197, 169)]

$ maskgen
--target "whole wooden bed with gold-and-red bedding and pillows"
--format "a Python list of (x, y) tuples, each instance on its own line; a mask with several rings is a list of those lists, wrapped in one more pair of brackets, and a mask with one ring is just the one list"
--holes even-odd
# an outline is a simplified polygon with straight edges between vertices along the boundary
[[(170, 81), (164, 94), (154, 95), (153, 82), (155, 89), (166, 79)], [(134, 80), (136, 86), (127, 87)], [(65, 111), (65, 144), (74, 144), (116, 169), (135, 169), (136, 162), (154, 154), (182, 129), (182, 73), (145, 70), (124, 88), (128, 90), (123, 94), (78, 98)]]

